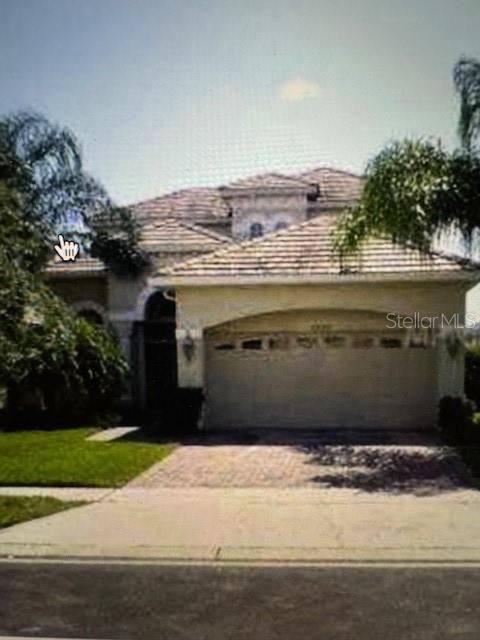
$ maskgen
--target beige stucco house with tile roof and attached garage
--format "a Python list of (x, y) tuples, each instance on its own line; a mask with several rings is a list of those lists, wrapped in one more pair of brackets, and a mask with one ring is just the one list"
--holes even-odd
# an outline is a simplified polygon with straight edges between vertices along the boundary
[(463, 392), (441, 325), (462, 321), (478, 272), (380, 240), (339, 260), (332, 232), (360, 189), (321, 168), (176, 192), (133, 206), (153, 257), (141, 278), (89, 259), (48, 277), (115, 326), (139, 409), (196, 389), (205, 429), (430, 428)]

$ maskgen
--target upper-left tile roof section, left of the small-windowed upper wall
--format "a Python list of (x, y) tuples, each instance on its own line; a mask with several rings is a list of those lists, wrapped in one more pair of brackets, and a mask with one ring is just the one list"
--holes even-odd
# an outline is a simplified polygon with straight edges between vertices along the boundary
[(143, 224), (159, 218), (186, 220), (218, 220), (228, 218), (230, 209), (216, 188), (182, 189), (152, 200), (132, 205), (138, 221)]

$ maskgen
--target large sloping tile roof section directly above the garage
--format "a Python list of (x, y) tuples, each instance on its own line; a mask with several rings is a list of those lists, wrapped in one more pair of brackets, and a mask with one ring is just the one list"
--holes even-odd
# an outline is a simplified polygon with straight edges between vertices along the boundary
[(338, 218), (325, 214), (263, 238), (177, 263), (158, 275), (181, 277), (342, 276), (461, 271), (458, 261), (428, 257), (383, 240), (368, 241), (358, 256), (340, 262), (332, 231)]

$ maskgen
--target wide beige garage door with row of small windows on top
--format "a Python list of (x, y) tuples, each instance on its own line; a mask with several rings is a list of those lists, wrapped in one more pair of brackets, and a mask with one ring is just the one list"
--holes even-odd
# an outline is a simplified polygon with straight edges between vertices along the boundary
[(206, 426), (431, 427), (435, 355), (391, 335), (212, 338)]

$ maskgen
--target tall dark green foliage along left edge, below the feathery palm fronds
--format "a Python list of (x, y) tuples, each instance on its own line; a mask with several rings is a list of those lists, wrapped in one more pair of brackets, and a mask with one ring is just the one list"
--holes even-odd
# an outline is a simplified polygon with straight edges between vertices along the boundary
[(110, 407), (127, 364), (114, 336), (77, 317), (36, 273), (41, 232), (0, 181), (0, 421), (66, 426)]

